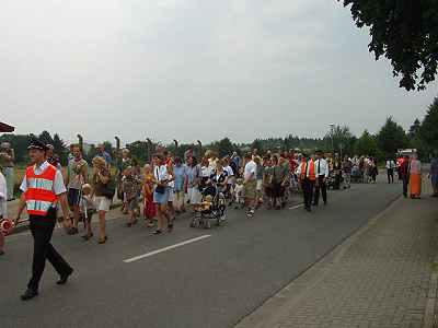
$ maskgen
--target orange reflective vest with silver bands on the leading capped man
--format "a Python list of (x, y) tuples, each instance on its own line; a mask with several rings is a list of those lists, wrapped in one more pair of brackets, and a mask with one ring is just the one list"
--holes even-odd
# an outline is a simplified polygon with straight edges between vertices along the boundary
[(24, 198), (30, 215), (45, 216), (48, 210), (55, 207), (58, 200), (54, 191), (55, 176), (56, 167), (53, 165), (48, 165), (41, 175), (35, 174), (34, 166), (27, 167), (27, 190), (24, 192)]

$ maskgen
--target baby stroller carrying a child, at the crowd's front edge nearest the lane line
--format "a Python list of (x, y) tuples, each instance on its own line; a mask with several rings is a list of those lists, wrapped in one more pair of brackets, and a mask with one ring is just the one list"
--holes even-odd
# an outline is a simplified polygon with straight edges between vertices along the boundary
[(191, 227), (210, 229), (210, 220), (214, 220), (216, 225), (220, 226), (221, 222), (224, 220), (227, 210), (223, 192), (216, 184), (210, 181), (203, 189), (201, 194), (203, 201), (194, 213)]

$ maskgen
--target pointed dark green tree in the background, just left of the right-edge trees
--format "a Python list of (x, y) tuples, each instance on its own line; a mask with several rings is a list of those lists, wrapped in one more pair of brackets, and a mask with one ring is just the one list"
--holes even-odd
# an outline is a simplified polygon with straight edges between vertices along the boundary
[(394, 156), (399, 149), (408, 145), (408, 140), (403, 127), (397, 125), (391, 116), (387, 118), (387, 122), (377, 134), (377, 142), (385, 157)]

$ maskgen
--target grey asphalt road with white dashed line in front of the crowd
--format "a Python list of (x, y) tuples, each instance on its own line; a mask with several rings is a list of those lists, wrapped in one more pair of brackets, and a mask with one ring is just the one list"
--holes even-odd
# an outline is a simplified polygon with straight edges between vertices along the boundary
[(31, 270), (32, 241), (11, 236), (0, 258), (0, 327), (233, 327), (385, 209), (400, 188), (354, 185), (331, 192), (330, 203), (312, 213), (262, 210), (247, 219), (230, 210), (226, 226), (208, 231), (178, 219), (174, 232), (161, 236), (112, 220), (105, 245), (57, 231), (54, 245), (74, 276), (57, 286), (47, 265), (41, 294), (28, 303), (19, 295)]

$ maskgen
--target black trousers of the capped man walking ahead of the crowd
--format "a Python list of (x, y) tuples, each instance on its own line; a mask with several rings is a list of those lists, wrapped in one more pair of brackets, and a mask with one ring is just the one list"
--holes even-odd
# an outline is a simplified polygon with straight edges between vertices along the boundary
[(32, 278), (27, 288), (38, 290), (39, 280), (46, 266), (46, 259), (55, 270), (62, 276), (72, 269), (50, 244), (56, 223), (56, 210), (50, 210), (46, 216), (30, 215), (30, 227), (34, 237), (34, 257), (32, 262)]

